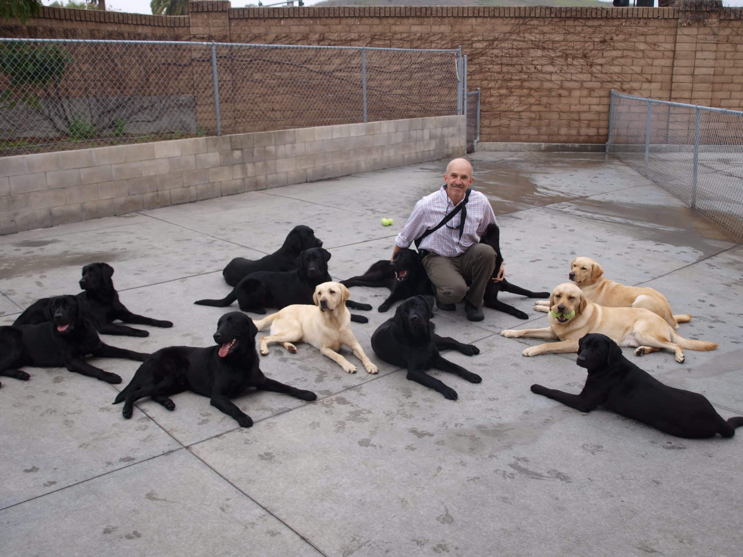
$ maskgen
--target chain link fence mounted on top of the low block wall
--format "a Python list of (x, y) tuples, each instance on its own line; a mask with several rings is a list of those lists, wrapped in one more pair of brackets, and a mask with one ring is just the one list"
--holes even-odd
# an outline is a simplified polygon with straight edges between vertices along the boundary
[(462, 114), (463, 68), (461, 50), (0, 39), (0, 156)]

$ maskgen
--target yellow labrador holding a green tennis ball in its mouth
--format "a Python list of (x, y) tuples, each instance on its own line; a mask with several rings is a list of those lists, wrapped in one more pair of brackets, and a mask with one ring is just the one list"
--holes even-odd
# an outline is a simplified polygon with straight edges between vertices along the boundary
[(531, 346), (524, 356), (548, 352), (577, 352), (578, 341), (588, 333), (602, 333), (620, 346), (636, 346), (635, 356), (668, 348), (677, 362), (684, 362), (683, 348), (709, 351), (717, 348), (713, 342), (684, 339), (663, 321), (661, 316), (643, 307), (604, 307), (588, 302), (575, 284), (565, 282), (552, 291), (550, 298), (550, 326), (544, 329), (502, 330), (503, 336), (532, 339), (559, 339)]

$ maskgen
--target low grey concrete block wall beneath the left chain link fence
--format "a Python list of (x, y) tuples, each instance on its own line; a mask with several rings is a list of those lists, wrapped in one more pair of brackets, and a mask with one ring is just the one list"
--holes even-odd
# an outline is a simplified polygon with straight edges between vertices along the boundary
[(0, 158), (0, 234), (455, 157), (464, 116)]

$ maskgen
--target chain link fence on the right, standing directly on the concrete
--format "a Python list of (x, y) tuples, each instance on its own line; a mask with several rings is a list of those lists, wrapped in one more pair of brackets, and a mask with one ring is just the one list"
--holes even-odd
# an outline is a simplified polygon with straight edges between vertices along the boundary
[(743, 237), (743, 112), (611, 91), (609, 120), (606, 152)]

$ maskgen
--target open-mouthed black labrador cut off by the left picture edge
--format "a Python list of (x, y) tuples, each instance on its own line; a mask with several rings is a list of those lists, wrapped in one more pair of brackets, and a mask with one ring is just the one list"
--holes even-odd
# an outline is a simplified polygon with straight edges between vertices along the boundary
[(126, 358), (143, 362), (142, 354), (101, 342), (93, 324), (86, 319), (85, 301), (77, 296), (55, 296), (45, 308), (47, 321), (39, 325), (0, 327), (0, 375), (28, 380), (24, 365), (38, 368), (68, 368), (78, 374), (109, 383), (121, 377), (85, 362), (92, 354), (102, 358)]

